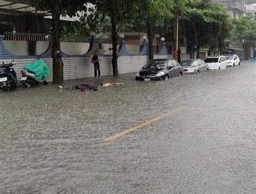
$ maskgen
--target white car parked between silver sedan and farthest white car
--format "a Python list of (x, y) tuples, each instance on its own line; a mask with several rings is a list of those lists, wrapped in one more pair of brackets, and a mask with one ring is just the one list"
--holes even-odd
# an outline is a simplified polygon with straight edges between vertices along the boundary
[(225, 56), (208, 56), (205, 59), (209, 70), (220, 70), (227, 68), (227, 58)]

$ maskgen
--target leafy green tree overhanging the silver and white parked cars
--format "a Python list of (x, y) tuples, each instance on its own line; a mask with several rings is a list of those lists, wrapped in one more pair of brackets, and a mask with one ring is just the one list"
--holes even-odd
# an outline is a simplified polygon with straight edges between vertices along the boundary
[(198, 49), (202, 46), (211, 49), (225, 49), (224, 39), (232, 29), (231, 19), (222, 4), (209, 0), (188, 2), (187, 11), (182, 16), (186, 25), (186, 37)]

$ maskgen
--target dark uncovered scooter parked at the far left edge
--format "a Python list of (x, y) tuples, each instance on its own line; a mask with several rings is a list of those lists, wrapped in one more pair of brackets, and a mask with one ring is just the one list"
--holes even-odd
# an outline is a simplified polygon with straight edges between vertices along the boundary
[(14, 66), (14, 60), (10, 63), (0, 64), (0, 89), (9, 91), (10, 89), (15, 89), (17, 85), (17, 75), (15, 70), (12, 68)]

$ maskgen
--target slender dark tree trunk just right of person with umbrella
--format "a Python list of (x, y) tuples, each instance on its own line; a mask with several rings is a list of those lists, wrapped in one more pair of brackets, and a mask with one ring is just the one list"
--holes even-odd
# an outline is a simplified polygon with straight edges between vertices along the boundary
[(112, 68), (113, 68), (113, 76), (118, 76), (118, 67), (117, 67), (117, 26), (116, 20), (114, 17), (111, 18), (112, 25)]

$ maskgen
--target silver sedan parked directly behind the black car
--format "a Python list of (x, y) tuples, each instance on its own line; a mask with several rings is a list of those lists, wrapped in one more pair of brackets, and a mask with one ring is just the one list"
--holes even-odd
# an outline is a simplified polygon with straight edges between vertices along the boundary
[(180, 65), (184, 74), (199, 74), (209, 70), (208, 64), (201, 59), (187, 59)]

